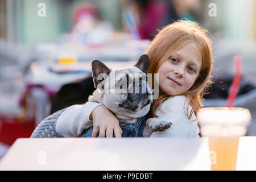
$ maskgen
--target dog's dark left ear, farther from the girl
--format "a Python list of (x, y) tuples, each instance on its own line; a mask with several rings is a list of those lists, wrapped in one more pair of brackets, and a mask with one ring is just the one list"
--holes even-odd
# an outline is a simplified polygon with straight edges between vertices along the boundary
[[(99, 79), (98, 76), (103, 73)], [(98, 84), (100, 84), (101, 81), (105, 80), (106, 77), (109, 75), (110, 69), (101, 61), (99, 60), (93, 60), (92, 61), (92, 77), (94, 86), (97, 89)]]

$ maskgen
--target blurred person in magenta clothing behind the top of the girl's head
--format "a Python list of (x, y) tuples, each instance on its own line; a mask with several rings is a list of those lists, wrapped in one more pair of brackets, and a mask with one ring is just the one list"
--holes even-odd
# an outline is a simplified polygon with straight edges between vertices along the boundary
[(198, 0), (128, 0), (126, 8), (134, 15), (141, 39), (153, 39), (158, 29), (178, 19), (195, 22)]

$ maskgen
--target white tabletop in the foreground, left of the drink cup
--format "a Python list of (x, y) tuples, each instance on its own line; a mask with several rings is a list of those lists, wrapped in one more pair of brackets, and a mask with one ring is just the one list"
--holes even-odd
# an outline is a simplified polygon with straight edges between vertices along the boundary
[(22, 138), (0, 170), (210, 170), (207, 138)]

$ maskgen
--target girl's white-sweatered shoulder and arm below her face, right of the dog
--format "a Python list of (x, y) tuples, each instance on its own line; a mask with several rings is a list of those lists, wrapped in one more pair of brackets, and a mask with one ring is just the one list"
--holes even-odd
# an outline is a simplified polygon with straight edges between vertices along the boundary
[(160, 110), (156, 110), (155, 114), (158, 115), (158, 119), (163, 121), (172, 122), (170, 129), (165, 131), (157, 131), (151, 134), (151, 137), (199, 137), (199, 127), (197, 125), (196, 116), (192, 114), (191, 119), (187, 117), (192, 107), (188, 105), (188, 99), (185, 96), (175, 96), (164, 101)]

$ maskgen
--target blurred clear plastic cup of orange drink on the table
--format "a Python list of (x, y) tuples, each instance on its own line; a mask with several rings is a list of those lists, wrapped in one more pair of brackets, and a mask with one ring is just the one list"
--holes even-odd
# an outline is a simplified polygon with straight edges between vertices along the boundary
[(205, 107), (197, 113), (201, 135), (208, 137), (212, 171), (236, 170), (239, 138), (246, 134), (251, 114), (242, 107)]

